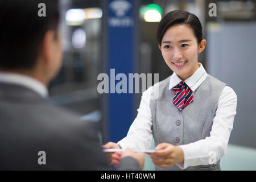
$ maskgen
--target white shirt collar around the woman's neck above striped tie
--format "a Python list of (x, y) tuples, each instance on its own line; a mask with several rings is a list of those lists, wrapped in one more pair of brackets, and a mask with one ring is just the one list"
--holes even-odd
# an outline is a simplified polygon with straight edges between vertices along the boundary
[[(193, 73), (193, 75), (189, 78), (187, 78), (184, 82), (189, 86), (189, 88), (194, 92), (205, 80), (207, 77), (207, 72), (205, 71), (203, 65), (201, 63), (200, 67)], [(170, 85), (169, 89), (174, 88), (179, 82), (182, 80), (176, 75), (176, 73), (173, 73), (170, 78)]]

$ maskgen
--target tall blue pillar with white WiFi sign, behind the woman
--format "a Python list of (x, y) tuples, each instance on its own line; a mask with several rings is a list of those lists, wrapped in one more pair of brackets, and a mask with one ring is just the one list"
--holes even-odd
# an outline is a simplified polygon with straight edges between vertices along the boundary
[[(104, 0), (105, 1), (105, 0)], [(134, 73), (135, 49), (135, 1), (108, 0), (107, 26), (107, 71), (109, 78), (115, 73), (126, 77)], [(116, 85), (119, 81), (113, 82)], [(109, 85), (110, 88), (111, 85)], [(109, 141), (118, 142), (124, 138), (133, 122), (134, 94), (108, 94), (108, 125)]]

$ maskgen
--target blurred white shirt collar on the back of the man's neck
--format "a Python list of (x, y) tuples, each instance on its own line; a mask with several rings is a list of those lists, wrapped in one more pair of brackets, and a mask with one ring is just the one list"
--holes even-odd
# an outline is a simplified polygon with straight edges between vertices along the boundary
[(26, 88), (34, 90), (42, 97), (48, 96), (48, 90), (46, 86), (35, 80), (35, 78), (26, 75), (10, 72), (0, 72), (0, 82), (25, 86)]

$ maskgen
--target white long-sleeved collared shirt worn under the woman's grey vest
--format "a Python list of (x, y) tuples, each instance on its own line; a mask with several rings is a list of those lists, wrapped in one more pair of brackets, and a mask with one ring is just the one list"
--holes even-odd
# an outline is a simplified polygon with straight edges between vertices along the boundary
[[(185, 80), (185, 83), (194, 92), (207, 78), (201, 63), (195, 73)], [(182, 81), (176, 73), (170, 78), (169, 89)], [(155, 84), (156, 85), (156, 84)], [(154, 85), (154, 86), (155, 86)], [(154, 86), (148, 88), (142, 94), (138, 115), (130, 126), (127, 137), (120, 140), (122, 148), (130, 147), (137, 150), (147, 150), (152, 142), (152, 117), (150, 100)], [(218, 99), (218, 109), (213, 119), (210, 137), (198, 140), (197, 142), (180, 145), (184, 153), (184, 163), (177, 164), (181, 169), (189, 166), (208, 165), (210, 160), (217, 162), (226, 153), (230, 133), (233, 129), (234, 116), (236, 115), (237, 95), (232, 88), (225, 86)], [(214, 155), (214, 156), (213, 156)], [(212, 157), (212, 158), (211, 158)]]

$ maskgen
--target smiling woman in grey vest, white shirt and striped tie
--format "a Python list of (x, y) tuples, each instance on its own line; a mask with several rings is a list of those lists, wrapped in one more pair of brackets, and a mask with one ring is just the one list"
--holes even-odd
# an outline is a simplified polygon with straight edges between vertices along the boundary
[[(157, 39), (174, 73), (143, 93), (127, 137), (105, 147), (147, 150), (154, 137), (156, 152), (149, 155), (156, 170), (220, 170), (237, 96), (198, 62), (206, 45), (202, 32), (199, 19), (187, 11), (171, 11), (163, 17)], [(159, 97), (153, 99), (156, 91)]]

